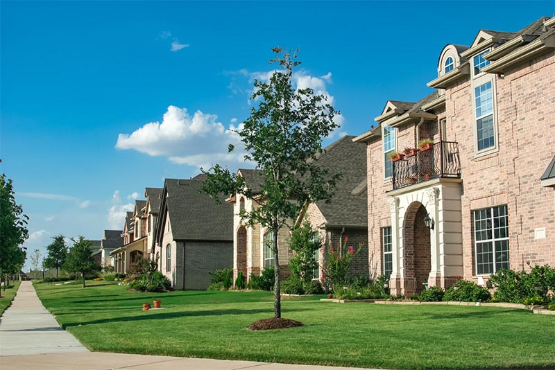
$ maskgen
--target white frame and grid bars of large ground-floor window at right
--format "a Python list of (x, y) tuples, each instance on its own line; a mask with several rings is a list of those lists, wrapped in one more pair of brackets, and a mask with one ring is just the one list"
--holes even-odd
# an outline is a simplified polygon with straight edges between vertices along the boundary
[[(504, 210), (504, 215), (501, 216), (497, 216), (495, 217), (494, 215), (494, 209), (503, 209)], [(489, 211), (489, 215), (486, 218), (479, 218), (477, 219), (477, 215), (479, 215), (479, 213), (483, 212), (483, 211)], [(498, 213), (499, 214), (499, 213)], [(504, 227), (496, 227), (499, 226), (499, 221), (496, 222), (497, 220), (500, 220), (504, 218), (504, 222), (505, 222), (505, 226)], [(473, 254), (474, 254), (474, 268), (475, 268), (475, 272), (477, 276), (488, 276), (490, 274), (495, 274), (495, 272), (497, 272), (497, 270), (503, 269), (503, 268), (509, 268), (510, 267), (510, 263), (511, 260), (509, 258), (510, 256), (510, 250), (511, 247), (509, 245), (509, 212), (508, 212), (508, 208), (506, 204), (502, 204), (499, 206), (493, 206), (493, 207), (488, 207), (488, 208), (484, 208), (484, 209), (476, 209), (472, 211), (472, 222), (474, 224), (474, 232), (473, 232), (473, 236), (474, 236), (474, 248), (473, 248)], [(485, 228), (479, 228), (478, 225), (481, 222), (486, 222), (486, 227)], [(487, 225), (487, 222), (489, 222), (489, 225)], [(495, 231), (496, 229), (499, 230), (499, 236), (495, 236)], [(488, 237), (488, 231), (490, 232), (490, 236)], [(486, 233), (486, 237), (484, 238), (484, 233)], [(501, 263), (506, 264), (506, 266), (501, 266), (499, 269), (497, 268), (497, 261), (496, 261), (496, 256), (497, 256), (497, 245), (502, 244), (503, 242), (506, 242), (506, 261), (502, 261)], [(491, 251), (487, 252), (488, 254), (490, 254), (489, 256), (489, 260), (491, 261), (491, 272), (482, 272), (479, 273), (478, 272), (478, 247), (480, 244), (486, 244), (486, 243), (491, 243)], [(481, 254), (486, 254), (484, 252), (481, 252)], [(489, 263), (488, 263), (489, 264)], [(485, 265), (485, 263), (481, 263), (481, 265)]]

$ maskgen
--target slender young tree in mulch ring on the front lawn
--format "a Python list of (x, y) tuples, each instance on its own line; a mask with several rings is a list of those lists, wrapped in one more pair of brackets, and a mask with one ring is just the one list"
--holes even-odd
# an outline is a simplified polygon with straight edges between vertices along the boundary
[[(338, 127), (334, 116), (339, 114), (326, 102), (324, 95), (315, 95), (310, 88), (293, 87), (293, 69), (298, 67), (297, 52), (281, 48), (272, 51), (278, 56), (281, 70), (274, 71), (269, 82), (255, 80), (251, 96), (253, 106), (244, 128), (238, 132), (244, 143), (246, 161), (254, 161), (261, 170), (260, 206), (240, 213), (248, 225), (261, 224), (273, 231), (272, 249), (275, 268), (274, 317), (281, 317), (280, 258), (278, 231), (296, 218), (303, 206), (318, 200), (330, 200), (340, 175), (330, 175), (314, 164), (322, 152), (322, 139)], [(229, 151), (234, 150), (233, 146)], [(216, 165), (207, 172), (203, 191), (216, 198), (221, 193), (255, 195), (244, 179)]]

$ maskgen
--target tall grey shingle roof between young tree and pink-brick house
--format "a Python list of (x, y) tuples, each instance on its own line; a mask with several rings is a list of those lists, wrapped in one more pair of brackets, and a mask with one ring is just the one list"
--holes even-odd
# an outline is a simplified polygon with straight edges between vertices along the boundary
[(316, 166), (327, 168), (330, 174), (343, 174), (331, 202), (316, 202), (330, 225), (368, 227), (366, 144), (355, 143), (354, 138), (343, 136), (324, 148), (315, 162)]

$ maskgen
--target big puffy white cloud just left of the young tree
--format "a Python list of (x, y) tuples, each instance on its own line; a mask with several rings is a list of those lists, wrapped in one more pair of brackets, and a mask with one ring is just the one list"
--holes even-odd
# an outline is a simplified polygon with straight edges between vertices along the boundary
[[(225, 128), (218, 116), (170, 105), (162, 123), (151, 122), (131, 134), (119, 134), (116, 148), (134, 149), (151, 156), (165, 156), (176, 164), (209, 168), (212, 164), (237, 165), (241, 152), (228, 154), (228, 144), (239, 143), (235, 127)], [(119, 195), (118, 195), (119, 199)]]

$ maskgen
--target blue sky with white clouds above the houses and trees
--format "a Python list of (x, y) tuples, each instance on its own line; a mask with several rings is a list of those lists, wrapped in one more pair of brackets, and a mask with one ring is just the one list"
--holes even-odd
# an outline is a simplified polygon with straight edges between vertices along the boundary
[(330, 143), (368, 130), (386, 100), (432, 92), (445, 44), (554, 12), (552, 0), (1, 1), (0, 171), (31, 218), (26, 246), (100, 239), (146, 186), (245, 166), (225, 155), (228, 130), (274, 46), (300, 49), (296, 83), (341, 110)]

